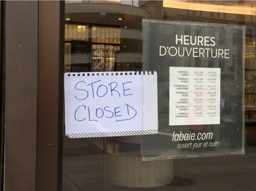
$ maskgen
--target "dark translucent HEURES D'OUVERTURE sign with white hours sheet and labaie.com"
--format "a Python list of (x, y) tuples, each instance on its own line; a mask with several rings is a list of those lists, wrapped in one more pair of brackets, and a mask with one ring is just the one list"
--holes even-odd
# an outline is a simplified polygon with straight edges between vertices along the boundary
[(158, 135), (143, 160), (244, 153), (244, 26), (143, 20), (143, 71), (158, 73)]

